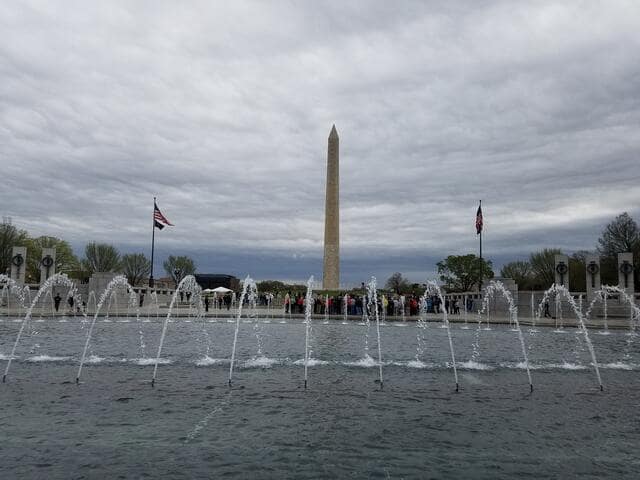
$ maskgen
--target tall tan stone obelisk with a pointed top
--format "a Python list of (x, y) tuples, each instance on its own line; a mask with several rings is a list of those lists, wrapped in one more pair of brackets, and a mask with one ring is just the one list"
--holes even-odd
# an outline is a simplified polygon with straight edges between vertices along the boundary
[(322, 288), (340, 288), (340, 140), (336, 126), (329, 133), (327, 197), (324, 208), (324, 263)]

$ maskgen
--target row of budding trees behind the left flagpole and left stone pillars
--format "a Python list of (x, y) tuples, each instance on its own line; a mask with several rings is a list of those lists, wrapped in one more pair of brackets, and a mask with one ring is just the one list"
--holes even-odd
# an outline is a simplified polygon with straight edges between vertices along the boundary
[[(133, 286), (143, 285), (151, 272), (151, 261), (144, 253), (121, 254), (107, 243), (90, 242), (85, 246), (84, 256), (78, 258), (69, 242), (57, 237), (31, 237), (26, 230), (10, 223), (0, 224), (0, 272), (9, 274), (13, 247), (26, 247), (27, 262), (25, 281), (40, 282), (40, 261), (43, 248), (55, 248), (55, 271), (66, 273), (70, 278), (86, 282), (95, 272), (123, 274)], [(196, 272), (194, 261), (187, 256), (170, 255), (164, 262), (165, 272), (175, 284), (184, 276)]]

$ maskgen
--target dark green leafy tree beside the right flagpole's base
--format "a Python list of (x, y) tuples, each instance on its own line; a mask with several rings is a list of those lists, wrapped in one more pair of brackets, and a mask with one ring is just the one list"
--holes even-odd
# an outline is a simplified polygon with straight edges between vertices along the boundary
[(448, 292), (469, 292), (478, 284), (480, 274), (483, 280), (493, 278), (492, 264), (474, 254), (449, 255), (438, 262), (440, 281)]

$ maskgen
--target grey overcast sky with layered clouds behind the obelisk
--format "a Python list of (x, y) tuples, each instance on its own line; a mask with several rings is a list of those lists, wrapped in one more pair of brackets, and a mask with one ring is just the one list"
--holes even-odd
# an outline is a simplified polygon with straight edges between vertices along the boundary
[[(342, 280), (593, 249), (640, 220), (640, 2), (3, 1), (0, 211), (78, 253)], [(160, 275), (156, 274), (156, 277)]]

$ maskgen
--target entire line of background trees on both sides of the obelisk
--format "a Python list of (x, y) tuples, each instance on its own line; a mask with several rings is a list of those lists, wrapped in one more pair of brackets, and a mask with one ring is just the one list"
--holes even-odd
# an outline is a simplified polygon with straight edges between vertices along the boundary
[[(56, 272), (66, 273), (71, 278), (87, 281), (94, 272), (115, 272), (126, 275), (131, 285), (144, 283), (151, 271), (151, 262), (144, 253), (121, 255), (113, 246), (91, 242), (85, 246), (84, 257), (78, 258), (65, 240), (40, 236), (31, 237), (25, 230), (17, 229), (10, 223), (0, 224), (0, 272), (9, 273), (11, 249), (14, 246), (27, 248), (25, 266), (27, 283), (40, 281), (40, 260), (43, 248), (56, 249)], [(611, 221), (598, 238), (594, 253), (600, 256), (600, 278), (603, 284), (618, 283), (618, 253), (632, 252), (634, 280), (640, 287), (640, 229), (636, 221), (624, 212)], [(528, 260), (505, 264), (500, 270), (502, 277), (513, 278), (520, 290), (544, 290), (555, 279), (554, 257), (562, 254), (558, 248), (544, 248), (529, 255)], [(569, 255), (569, 285), (573, 291), (586, 290), (586, 257), (588, 250), (578, 250)], [(187, 256), (170, 255), (164, 262), (165, 272), (174, 284), (186, 275), (196, 272), (194, 261)], [(468, 292), (477, 287), (479, 279), (494, 277), (491, 261), (480, 259), (474, 254), (450, 255), (437, 263), (440, 281), (449, 292)], [(261, 282), (265, 291), (284, 291), (291, 288), (306, 288), (304, 285), (287, 285), (275, 280)], [(386, 283), (386, 288), (398, 294), (417, 291), (422, 285), (410, 283), (402, 274), (394, 273)]]

